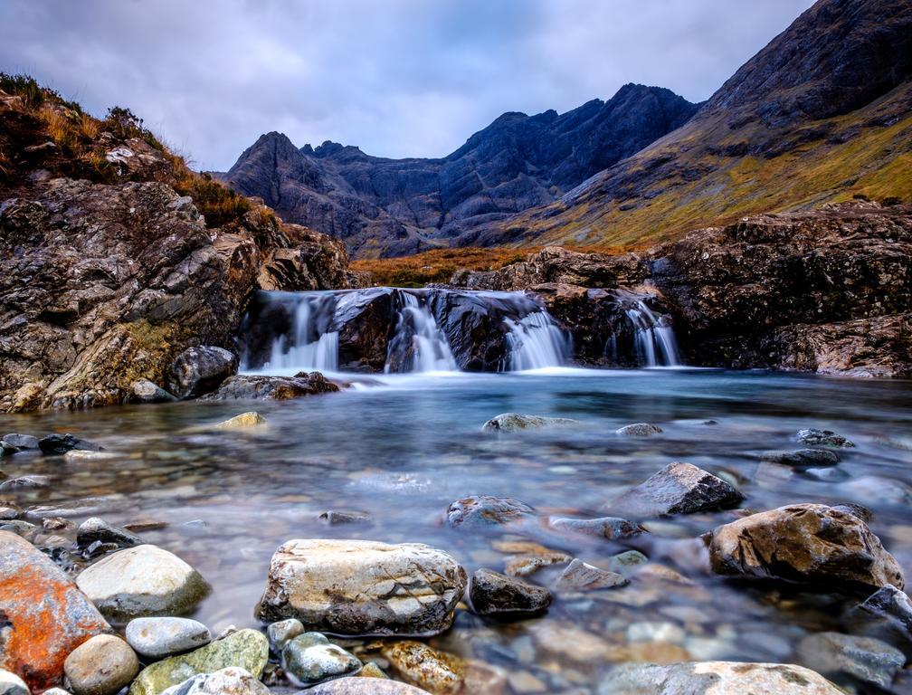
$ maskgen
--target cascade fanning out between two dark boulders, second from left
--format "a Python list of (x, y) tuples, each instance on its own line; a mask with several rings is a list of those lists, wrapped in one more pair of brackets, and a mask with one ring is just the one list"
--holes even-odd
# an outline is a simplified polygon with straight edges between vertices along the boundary
[[(387, 363), (383, 371), (429, 372), (458, 371), (447, 337), (437, 326), (437, 320), (419, 298), (407, 292), (399, 293), (402, 306), (396, 323), (396, 334), (389, 341)], [(399, 365), (392, 359), (404, 354)]]

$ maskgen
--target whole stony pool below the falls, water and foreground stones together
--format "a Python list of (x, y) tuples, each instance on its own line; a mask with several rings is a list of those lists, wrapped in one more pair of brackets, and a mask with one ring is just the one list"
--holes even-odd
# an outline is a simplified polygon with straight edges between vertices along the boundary
[(903, 692), (910, 422), (904, 382), (706, 370), (5, 416), (0, 675)]

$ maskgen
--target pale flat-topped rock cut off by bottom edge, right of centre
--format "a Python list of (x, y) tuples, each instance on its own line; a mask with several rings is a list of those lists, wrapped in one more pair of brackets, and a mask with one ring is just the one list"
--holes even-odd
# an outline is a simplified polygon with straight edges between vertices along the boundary
[(845, 695), (811, 669), (792, 664), (694, 661), (629, 664), (602, 679), (599, 695)]

